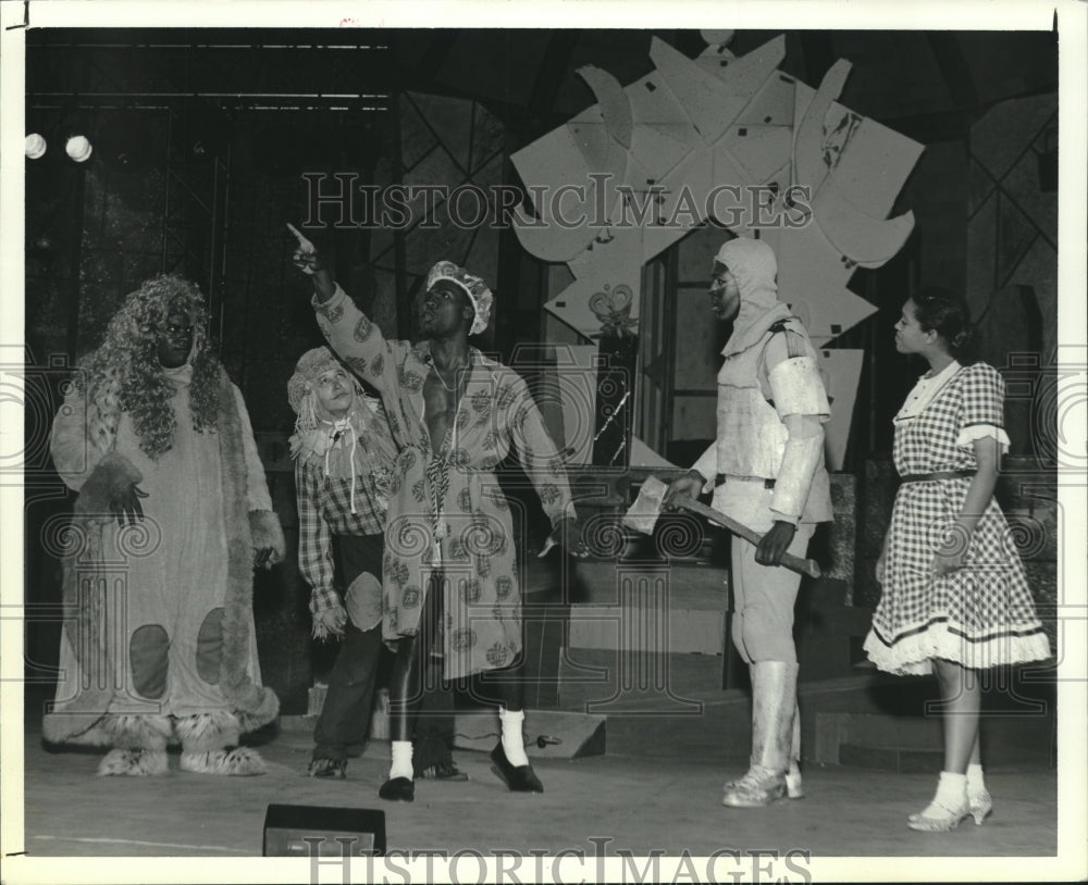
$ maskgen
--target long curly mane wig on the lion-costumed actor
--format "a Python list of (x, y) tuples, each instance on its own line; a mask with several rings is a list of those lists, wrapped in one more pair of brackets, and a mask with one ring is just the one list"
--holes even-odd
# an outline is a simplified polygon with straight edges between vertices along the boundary
[(158, 459), (173, 446), (177, 424), (170, 402), (174, 388), (159, 364), (157, 348), (174, 309), (193, 323), (193, 428), (214, 431), (223, 369), (208, 338), (203, 296), (195, 284), (162, 275), (125, 296), (102, 344), (79, 361), (76, 385), (88, 404), (90, 440), (101, 451), (112, 449), (122, 412), (132, 417), (139, 447), (149, 458)]

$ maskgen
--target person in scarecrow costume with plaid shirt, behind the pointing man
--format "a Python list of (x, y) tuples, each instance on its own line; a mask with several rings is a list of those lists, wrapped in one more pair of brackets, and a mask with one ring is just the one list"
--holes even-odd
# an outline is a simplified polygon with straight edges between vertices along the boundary
[[(313, 635), (341, 639), (313, 733), (311, 777), (344, 777), (367, 739), (382, 651), (382, 556), (388, 502), (378, 489), (396, 458), (381, 403), (326, 347), (302, 354), (287, 384), (298, 415), (290, 439), (298, 506), (298, 568), (312, 588)], [(335, 544), (334, 544), (335, 539)], [(334, 565), (334, 552), (336, 564)], [(342, 595), (339, 583), (346, 587)], [(453, 763), (448, 716), (416, 728), (417, 775), (467, 780)]]

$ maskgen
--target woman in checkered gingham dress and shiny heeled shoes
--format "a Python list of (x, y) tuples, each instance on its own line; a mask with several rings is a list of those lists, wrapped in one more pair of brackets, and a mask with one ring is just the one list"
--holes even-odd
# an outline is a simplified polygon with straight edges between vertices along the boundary
[(926, 289), (903, 306), (895, 349), (929, 363), (895, 416), (901, 481), (877, 579), (883, 587), (865, 641), (891, 673), (936, 673), (944, 703), (944, 770), (912, 830), (948, 831), (992, 802), (978, 746), (977, 674), (1050, 657), (1024, 566), (993, 499), (1003, 427), (1001, 375), (970, 359), (963, 300)]

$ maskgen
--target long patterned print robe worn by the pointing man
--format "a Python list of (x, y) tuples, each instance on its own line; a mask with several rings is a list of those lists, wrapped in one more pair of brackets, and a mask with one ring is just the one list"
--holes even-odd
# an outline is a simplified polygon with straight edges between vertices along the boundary
[(399, 450), (387, 489), (383, 637), (419, 631), (423, 596), (441, 571), (444, 676), (509, 665), (521, 650), (516, 548), (524, 545), (495, 468), (511, 445), (553, 525), (570, 508), (562, 459), (529, 388), (472, 348), (456, 417), (433, 450), (423, 415), (430, 342), (386, 340), (339, 286), (313, 307), (330, 347), (381, 392)]

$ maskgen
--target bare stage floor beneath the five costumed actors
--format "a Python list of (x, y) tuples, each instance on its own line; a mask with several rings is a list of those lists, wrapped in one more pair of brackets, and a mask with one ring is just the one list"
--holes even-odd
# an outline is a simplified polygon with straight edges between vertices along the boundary
[(988, 771), (994, 811), (985, 825), (922, 834), (907, 814), (931, 798), (932, 776), (846, 766), (805, 769), (807, 798), (757, 810), (720, 805), (721, 784), (742, 773), (727, 755), (646, 758), (606, 755), (534, 762), (542, 795), (511, 794), (485, 753), (456, 751), (467, 783), (420, 781), (412, 803), (388, 803), (378, 787), (388, 744), (353, 759), (346, 781), (304, 776), (310, 735), (281, 731), (260, 747), (270, 772), (213, 777), (172, 771), (153, 778), (98, 777), (101, 751), (48, 751), (28, 716), (25, 851), (30, 857), (261, 855), (269, 803), (381, 808), (388, 848), (457, 851), (574, 850), (708, 856), (724, 849), (811, 851), (813, 857), (1053, 856), (1056, 773)]

